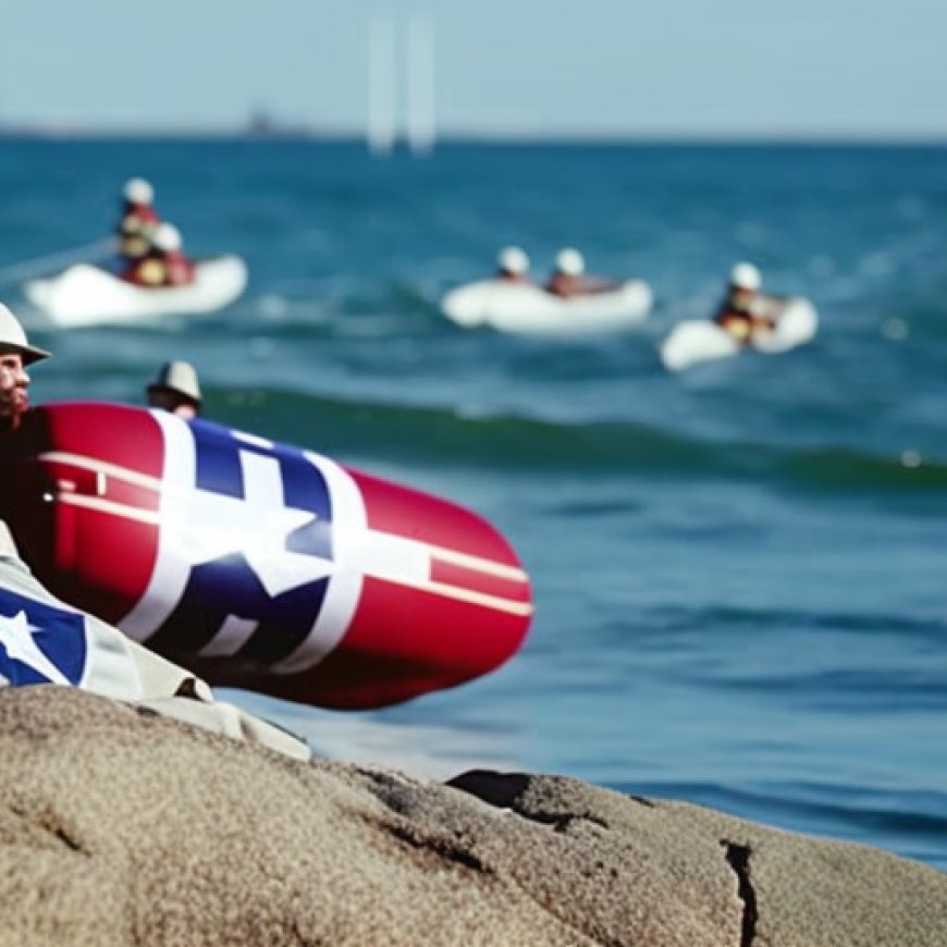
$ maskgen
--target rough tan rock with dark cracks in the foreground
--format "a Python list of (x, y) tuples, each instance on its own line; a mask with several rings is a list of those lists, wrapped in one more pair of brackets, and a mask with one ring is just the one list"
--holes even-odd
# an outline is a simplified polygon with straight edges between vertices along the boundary
[(555, 776), (303, 762), (0, 689), (0, 944), (947, 945), (947, 875)]

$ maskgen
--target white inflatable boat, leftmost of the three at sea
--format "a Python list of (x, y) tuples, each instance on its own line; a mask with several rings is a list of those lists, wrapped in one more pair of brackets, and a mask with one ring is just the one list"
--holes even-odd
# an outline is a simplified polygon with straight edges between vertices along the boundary
[(136, 322), (160, 316), (213, 312), (233, 303), (247, 284), (246, 263), (226, 255), (198, 260), (185, 286), (137, 286), (89, 263), (26, 283), (26, 298), (57, 325)]

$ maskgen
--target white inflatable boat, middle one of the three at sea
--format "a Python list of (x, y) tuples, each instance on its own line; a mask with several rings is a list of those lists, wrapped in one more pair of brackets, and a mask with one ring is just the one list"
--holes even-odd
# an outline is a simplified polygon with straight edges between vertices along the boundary
[(641, 322), (651, 308), (651, 290), (641, 280), (629, 280), (614, 290), (564, 298), (531, 283), (481, 280), (452, 290), (441, 305), (465, 329), (573, 335)]

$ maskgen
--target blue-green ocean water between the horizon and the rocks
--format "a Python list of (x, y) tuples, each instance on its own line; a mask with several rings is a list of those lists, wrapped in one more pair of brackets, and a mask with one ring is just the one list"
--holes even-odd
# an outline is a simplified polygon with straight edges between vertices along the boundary
[[(132, 174), (248, 292), (53, 331), (21, 281), (107, 235)], [(331, 757), (567, 774), (947, 869), (947, 148), (2, 139), (0, 185), (0, 298), (57, 356), (35, 401), (140, 403), (189, 358), (208, 416), (469, 506), (530, 573), (526, 645), (480, 680), (370, 713), (229, 699)], [(575, 245), (655, 309), (455, 328), (442, 294), (507, 243), (539, 274)], [(668, 373), (657, 343), (738, 259), (819, 336)]]

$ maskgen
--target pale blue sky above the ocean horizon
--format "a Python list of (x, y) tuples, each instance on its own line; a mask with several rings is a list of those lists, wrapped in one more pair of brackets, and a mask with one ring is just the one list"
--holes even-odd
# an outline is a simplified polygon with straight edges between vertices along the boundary
[(413, 13), (444, 134), (947, 139), (944, 0), (2, 0), (0, 118), (357, 133)]

